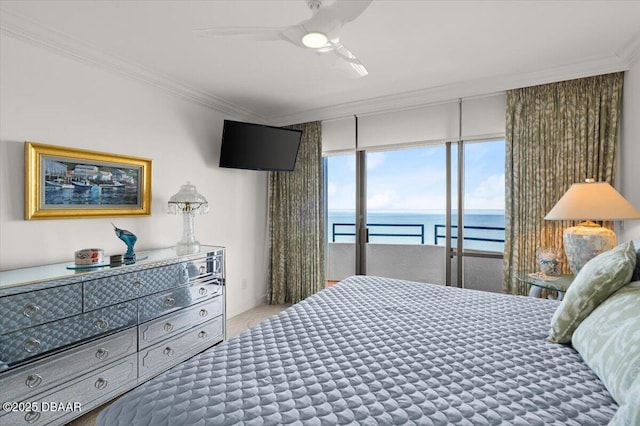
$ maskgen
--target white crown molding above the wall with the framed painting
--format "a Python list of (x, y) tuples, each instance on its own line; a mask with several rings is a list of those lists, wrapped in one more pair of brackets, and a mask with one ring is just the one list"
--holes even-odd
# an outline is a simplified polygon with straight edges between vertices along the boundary
[(177, 96), (223, 114), (264, 121), (264, 117), (255, 111), (189, 87), (186, 84), (177, 82), (175, 79), (146, 69), (123, 58), (101, 52), (90, 43), (47, 28), (6, 8), (0, 8), (0, 33), (34, 46), (45, 48), (67, 58), (142, 82), (172, 96)]

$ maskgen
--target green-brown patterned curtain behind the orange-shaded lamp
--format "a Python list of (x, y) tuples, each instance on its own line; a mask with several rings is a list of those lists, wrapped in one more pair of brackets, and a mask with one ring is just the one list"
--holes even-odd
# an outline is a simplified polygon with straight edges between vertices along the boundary
[(537, 269), (536, 247), (562, 247), (575, 223), (544, 216), (571, 184), (613, 185), (622, 81), (616, 73), (507, 92), (505, 293), (527, 294), (515, 275)]

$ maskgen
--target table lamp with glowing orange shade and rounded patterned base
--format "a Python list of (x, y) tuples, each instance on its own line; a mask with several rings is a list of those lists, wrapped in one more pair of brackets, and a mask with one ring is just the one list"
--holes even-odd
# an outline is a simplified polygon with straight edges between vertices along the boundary
[(577, 275), (589, 260), (616, 246), (616, 234), (591, 221), (640, 219), (640, 212), (607, 182), (586, 179), (571, 185), (544, 218), (585, 221), (562, 234), (571, 272)]

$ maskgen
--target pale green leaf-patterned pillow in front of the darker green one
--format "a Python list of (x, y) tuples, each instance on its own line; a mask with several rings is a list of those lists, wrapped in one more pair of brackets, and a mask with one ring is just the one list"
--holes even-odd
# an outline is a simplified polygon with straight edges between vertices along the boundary
[(629, 403), (631, 389), (640, 386), (640, 281), (622, 287), (594, 309), (576, 328), (571, 343), (618, 405)]

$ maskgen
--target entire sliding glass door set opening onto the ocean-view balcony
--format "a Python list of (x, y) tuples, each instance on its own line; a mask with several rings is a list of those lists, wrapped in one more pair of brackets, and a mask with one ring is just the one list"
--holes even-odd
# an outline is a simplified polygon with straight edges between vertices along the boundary
[(328, 280), (367, 274), (500, 291), (504, 141), (326, 157), (325, 176)]

